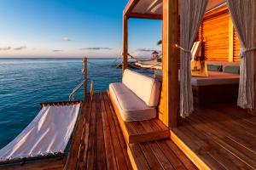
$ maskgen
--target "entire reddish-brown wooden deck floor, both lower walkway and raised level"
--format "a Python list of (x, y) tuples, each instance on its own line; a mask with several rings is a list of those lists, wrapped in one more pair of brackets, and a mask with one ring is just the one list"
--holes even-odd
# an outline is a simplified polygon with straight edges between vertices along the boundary
[(256, 116), (235, 105), (207, 105), (181, 120), (172, 129), (171, 139), (128, 144), (108, 94), (95, 94), (92, 101), (82, 104), (67, 160), (37, 161), (0, 169), (197, 167), (256, 169)]

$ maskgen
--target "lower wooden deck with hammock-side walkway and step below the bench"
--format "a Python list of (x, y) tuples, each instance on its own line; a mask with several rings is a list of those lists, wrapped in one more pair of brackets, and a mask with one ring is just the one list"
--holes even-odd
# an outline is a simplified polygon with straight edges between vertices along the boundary
[(108, 94), (95, 94), (82, 106), (65, 169), (132, 168), (195, 169), (195, 165), (171, 139), (126, 144)]

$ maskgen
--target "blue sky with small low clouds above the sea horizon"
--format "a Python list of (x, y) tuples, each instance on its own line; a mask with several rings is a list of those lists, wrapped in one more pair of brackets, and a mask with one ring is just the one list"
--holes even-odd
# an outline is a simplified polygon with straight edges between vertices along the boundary
[[(117, 57), (128, 0), (0, 0), (0, 57)], [(129, 20), (129, 52), (160, 50), (160, 20)]]

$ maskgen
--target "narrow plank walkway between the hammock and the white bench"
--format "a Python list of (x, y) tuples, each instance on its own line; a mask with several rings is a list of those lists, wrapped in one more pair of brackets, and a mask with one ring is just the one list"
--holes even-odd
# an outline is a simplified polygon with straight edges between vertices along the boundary
[[(94, 94), (92, 101), (84, 102), (84, 118), (79, 120), (79, 138), (76, 152), (69, 153), (66, 167), (70, 169), (131, 169), (131, 162), (125, 148), (113, 109), (107, 94)], [(79, 132), (77, 132), (79, 130)], [(73, 146), (74, 147), (74, 146)]]

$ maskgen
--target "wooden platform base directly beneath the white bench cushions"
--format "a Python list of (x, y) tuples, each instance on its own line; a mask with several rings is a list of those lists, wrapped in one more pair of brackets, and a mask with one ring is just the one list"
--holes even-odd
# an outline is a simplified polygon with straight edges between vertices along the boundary
[(143, 129), (137, 129), (137, 128), (131, 127), (132, 122), (124, 122), (123, 121), (122, 117), (120, 116), (118, 106), (115, 104), (112, 96), (109, 94), (109, 91), (108, 91), (108, 96), (113, 105), (115, 114), (118, 117), (119, 125), (122, 129), (124, 136), (125, 136), (125, 142), (127, 144), (148, 142), (148, 141), (157, 140), (157, 139), (170, 139), (169, 128), (166, 127), (162, 122), (160, 122), (159, 119), (152, 119), (149, 121), (136, 122), (136, 123), (141, 123), (141, 124), (147, 124), (148, 122), (155, 123), (156, 126), (160, 127), (160, 130), (158, 130), (158, 131), (145, 132), (145, 131), (143, 131)]

